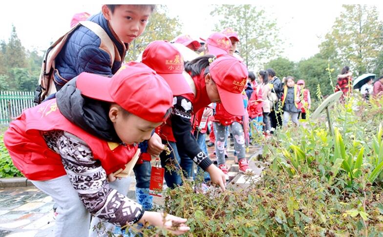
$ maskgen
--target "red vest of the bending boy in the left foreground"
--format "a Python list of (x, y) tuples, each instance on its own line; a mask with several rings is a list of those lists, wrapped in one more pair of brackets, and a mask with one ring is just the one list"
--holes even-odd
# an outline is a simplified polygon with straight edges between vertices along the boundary
[(107, 142), (85, 132), (65, 119), (56, 99), (51, 99), (25, 110), (4, 134), (13, 163), (28, 179), (48, 180), (66, 175), (60, 155), (48, 148), (42, 136), (42, 131), (51, 130), (66, 131), (84, 140), (107, 175), (125, 168), (137, 151), (135, 146)]

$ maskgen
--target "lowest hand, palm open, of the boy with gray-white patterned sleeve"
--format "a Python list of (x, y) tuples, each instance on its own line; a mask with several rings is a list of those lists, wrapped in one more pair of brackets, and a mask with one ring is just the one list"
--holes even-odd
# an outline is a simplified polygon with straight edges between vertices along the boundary
[(185, 225), (188, 219), (175, 217), (169, 214), (159, 212), (144, 212), (142, 218), (138, 221), (140, 223), (149, 222), (150, 225), (164, 228), (171, 232), (173, 235), (182, 235), (190, 230), (190, 227)]

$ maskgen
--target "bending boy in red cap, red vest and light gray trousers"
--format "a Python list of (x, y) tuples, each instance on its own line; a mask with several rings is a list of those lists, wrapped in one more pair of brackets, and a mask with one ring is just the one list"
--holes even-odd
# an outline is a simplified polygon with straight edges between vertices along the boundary
[(55, 236), (88, 236), (91, 214), (118, 226), (148, 221), (174, 234), (189, 230), (186, 219), (144, 211), (109, 186), (172, 106), (168, 84), (153, 70), (137, 62), (122, 68), (112, 78), (80, 74), (5, 132), (15, 166), (58, 204)]

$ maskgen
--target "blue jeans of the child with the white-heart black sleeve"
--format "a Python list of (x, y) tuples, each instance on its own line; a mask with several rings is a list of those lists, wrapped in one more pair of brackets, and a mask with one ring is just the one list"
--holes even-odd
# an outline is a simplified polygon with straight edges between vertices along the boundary
[[(167, 144), (167, 141), (162, 140), (163, 144)], [(165, 181), (166, 185), (170, 188), (175, 188), (181, 185), (181, 177), (178, 174), (180, 170), (181, 158), (178, 154), (177, 146), (175, 142), (169, 141), (170, 144), (170, 155), (166, 155), (165, 152), (160, 154), (161, 166), (165, 168)], [(189, 158), (190, 159), (190, 158)], [(193, 162), (191, 160), (191, 162)], [(167, 165), (172, 165), (175, 167), (175, 170), (169, 170), (166, 168)], [(182, 166), (181, 166), (182, 167)]]

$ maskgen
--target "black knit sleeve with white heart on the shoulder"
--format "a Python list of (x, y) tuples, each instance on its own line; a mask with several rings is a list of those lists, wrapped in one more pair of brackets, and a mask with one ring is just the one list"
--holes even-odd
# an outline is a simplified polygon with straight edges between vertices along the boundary
[(213, 164), (198, 146), (197, 141), (191, 134), (191, 101), (182, 96), (173, 98), (174, 114), (171, 116), (171, 128), (177, 141), (177, 149), (183, 150), (188, 157), (204, 171)]

